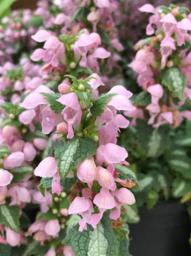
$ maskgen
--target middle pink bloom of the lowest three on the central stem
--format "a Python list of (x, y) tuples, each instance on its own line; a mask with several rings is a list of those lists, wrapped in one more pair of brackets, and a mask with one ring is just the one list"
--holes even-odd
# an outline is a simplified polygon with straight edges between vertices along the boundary
[(108, 189), (101, 188), (100, 193), (96, 194), (93, 202), (102, 209), (112, 209), (115, 207), (115, 200)]

